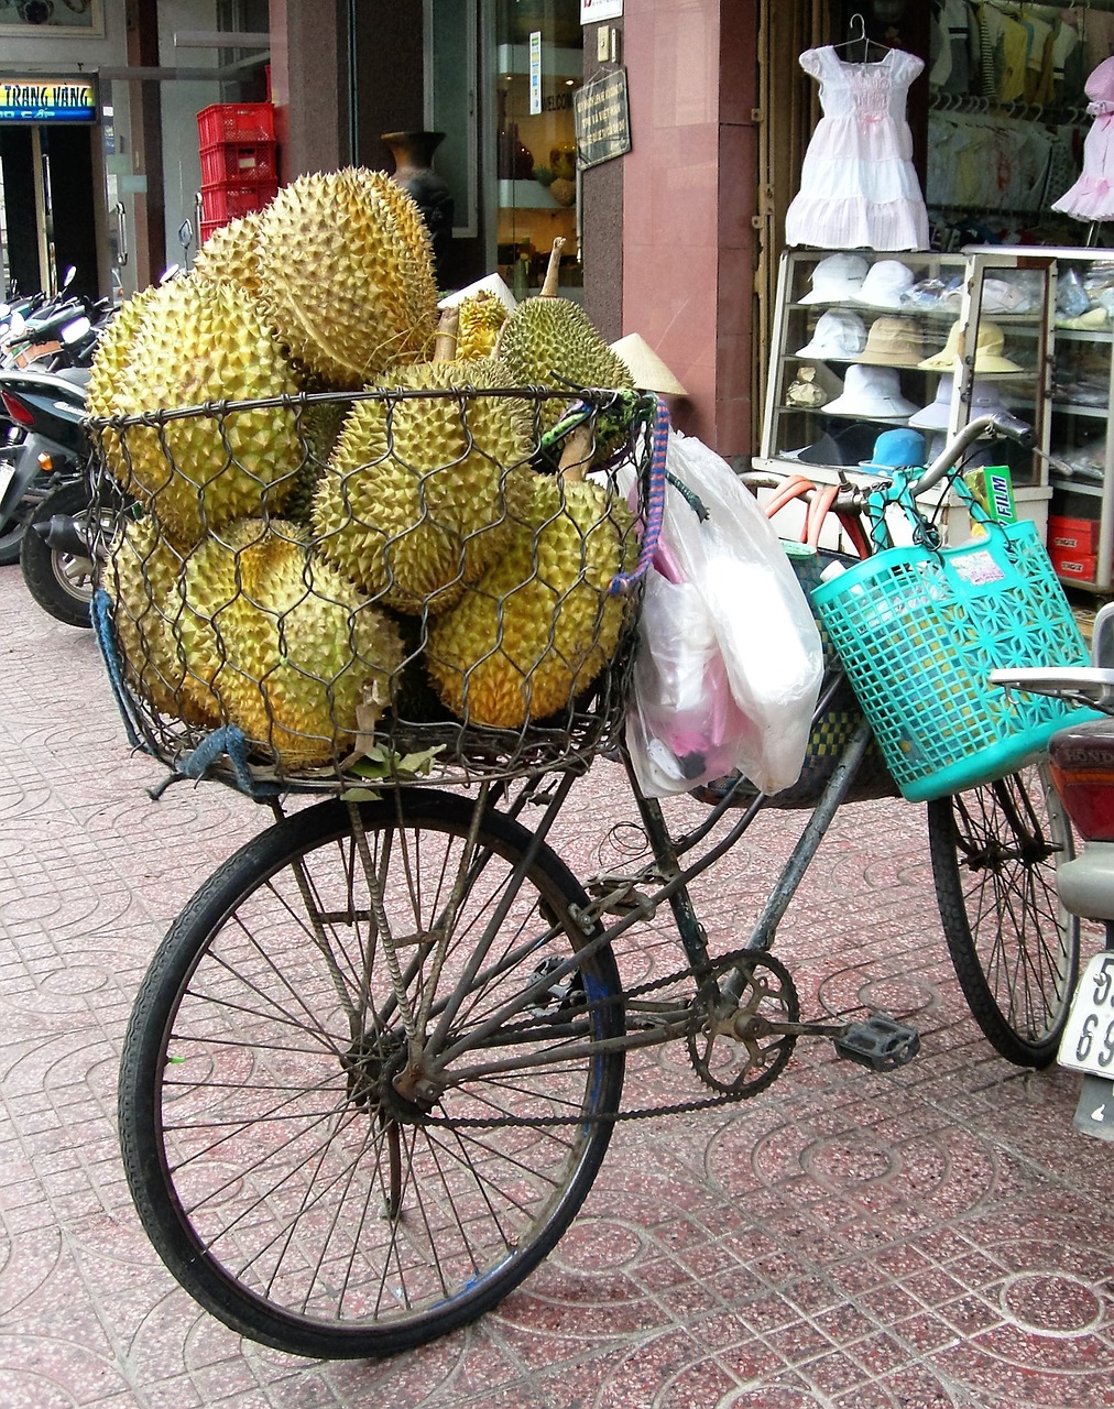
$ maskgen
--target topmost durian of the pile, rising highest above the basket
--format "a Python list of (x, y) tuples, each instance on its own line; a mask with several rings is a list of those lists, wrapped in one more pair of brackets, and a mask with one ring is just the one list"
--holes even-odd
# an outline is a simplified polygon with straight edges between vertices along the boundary
[(415, 221), (407, 192), (351, 166), (299, 176), (259, 213), (268, 318), (293, 356), (337, 390), (428, 355), (437, 286)]

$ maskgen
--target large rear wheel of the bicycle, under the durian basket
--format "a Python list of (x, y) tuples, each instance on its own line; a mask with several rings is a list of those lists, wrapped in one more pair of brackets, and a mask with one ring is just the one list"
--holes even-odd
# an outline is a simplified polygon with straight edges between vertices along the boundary
[[(568, 958), (592, 933), (573, 909), (587, 898), (552, 850), (541, 845), (515, 881), (531, 841), (517, 821), (486, 814), (462, 868), (472, 813), (468, 799), (424, 789), (359, 805), (396, 926), (417, 924), (417, 948), (434, 914), (451, 930), (442, 975), (456, 975), (465, 995), (453, 1034), (503, 1000), (521, 1002), (527, 982), (548, 976), (546, 957)], [(624, 1030), (618, 971), (601, 947), (573, 971), (587, 1055), (561, 1055), (575, 1009), (568, 989), (534, 995), (522, 1012), (535, 1016), (517, 1031), (500, 1027), (480, 1057), (552, 1061), (448, 1086), (434, 1107), (492, 1123), (475, 1133), (399, 1117), (382, 1092), (406, 1054), (370, 906), (359, 917), (363, 875), (351, 814), (335, 800), (242, 847), (170, 926), (121, 1061), (124, 1165), (156, 1251), (232, 1330), (318, 1358), (408, 1350), (517, 1286), (592, 1188), (622, 1089), (622, 1051), (592, 1050)], [(465, 883), (451, 926), (452, 875)], [(463, 965), (503, 900), (499, 937), (466, 982)], [(428, 951), (413, 964), (423, 975)], [(341, 992), (366, 993), (366, 1007), (353, 1017)], [(431, 1022), (438, 1014), (434, 1006)], [(575, 1123), (521, 1120), (553, 1115)], [(499, 1124), (504, 1116), (520, 1123)]]

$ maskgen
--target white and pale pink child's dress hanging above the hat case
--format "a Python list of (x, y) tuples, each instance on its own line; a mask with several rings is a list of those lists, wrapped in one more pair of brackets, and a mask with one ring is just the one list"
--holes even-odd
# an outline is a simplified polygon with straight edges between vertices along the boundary
[(848, 63), (825, 45), (806, 49), (800, 65), (820, 82), (824, 116), (786, 211), (786, 244), (927, 249), (928, 211), (906, 121), (908, 86), (924, 61), (890, 49), (876, 63)]

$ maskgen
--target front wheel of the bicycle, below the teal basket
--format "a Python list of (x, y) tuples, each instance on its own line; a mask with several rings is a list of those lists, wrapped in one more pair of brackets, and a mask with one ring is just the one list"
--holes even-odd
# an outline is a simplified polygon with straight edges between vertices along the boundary
[(1079, 920), (1060, 906), (1056, 865), (1072, 824), (1045, 764), (928, 805), (944, 934), (987, 1041), (1017, 1067), (1056, 1055), (1079, 971)]

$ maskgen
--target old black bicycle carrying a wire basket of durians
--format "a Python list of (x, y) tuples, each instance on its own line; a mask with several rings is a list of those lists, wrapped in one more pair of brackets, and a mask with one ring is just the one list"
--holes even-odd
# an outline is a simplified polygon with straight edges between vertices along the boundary
[[(390, 393), (394, 414), (407, 395)], [(499, 393), (453, 404), (463, 416), (479, 395)], [(582, 404), (603, 417), (611, 402), (586, 393)], [(166, 449), (175, 417), (235, 410), (117, 420), (97, 434), (154, 426)], [(921, 485), (987, 433), (1024, 428), (1001, 414), (973, 421)], [(535, 434), (544, 441), (537, 420)], [(649, 433), (634, 444), (644, 472)], [(862, 507), (849, 488), (839, 502)], [(303, 1355), (379, 1357), (475, 1320), (555, 1247), (615, 1122), (655, 1113), (621, 1106), (628, 1051), (684, 1043), (708, 1093), (669, 1109), (756, 1095), (803, 1036), (879, 1071), (915, 1054), (915, 1031), (884, 1014), (803, 1022), (772, 954), (825, 828), (853, 796), (865, 720), (808, 805), (751, 934), (714, 955), (690, 885), (770, 805), (745, 779), (673, 836), (627, 761), (649, 858), (621, 875), (582, 879), (548, 841), (593, 759), (624, 757), (632, 628), (553, 727), (424, 724), (392, 737), (392, 757), (432, 741), (430, 771), (370, 783), (351, 768), (284, 772), (244, 754), (227, 726), (214, 734), (168, 719), (128, 681), (120, 624), (114, 634), (99, 596), (94, 624), (134, 743), (189, 776), (245, 788), (276, 814), (170, 926), (120, 1076), (121, 1148), (144, 1227), (186, 1291), (235, 1332)], [(838, 688), (837, 672), (818, 714)], [(1038, 764), (928, 812), (960, 985), (989, 1040), (1022, 1065), (1055, 1054), (1079, 951), (1076, 921), (1055, 900), (1070, 827), (1045, 783)], [(293, 812), (282, 800), (321, 792)], [(624, 992), (613, 947), (665, 906), (683, 961)]]

